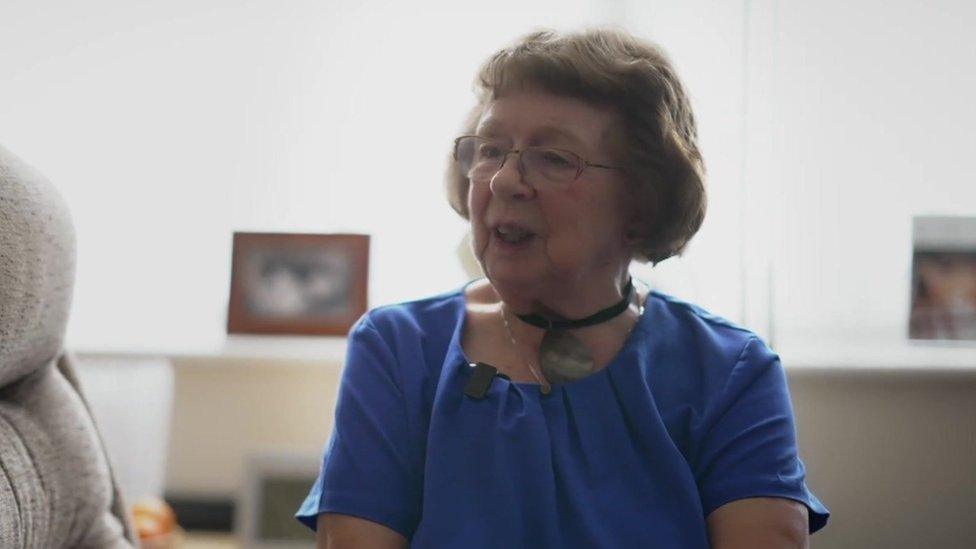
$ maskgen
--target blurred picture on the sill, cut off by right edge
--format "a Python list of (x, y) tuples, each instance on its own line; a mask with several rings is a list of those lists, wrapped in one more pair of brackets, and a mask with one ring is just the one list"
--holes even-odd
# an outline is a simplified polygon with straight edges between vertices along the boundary
[(976, 217), (916, 217), (908, 335), (976, 341)]

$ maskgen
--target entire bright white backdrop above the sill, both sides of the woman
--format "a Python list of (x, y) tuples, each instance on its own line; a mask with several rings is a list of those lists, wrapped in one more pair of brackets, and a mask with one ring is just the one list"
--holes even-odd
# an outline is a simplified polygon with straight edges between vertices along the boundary
[(461, 284), (477, 65), (601, 22), (671, 53), (709, 170), (687, 255), (639, 274), (777, 342), (900, 340), (911, 216), (976, 212), (971, 4), (3, 0), (0, 140), (78, 232), (69, 345), (219, 346), (234, 230), (371, 233), (373, 305)]

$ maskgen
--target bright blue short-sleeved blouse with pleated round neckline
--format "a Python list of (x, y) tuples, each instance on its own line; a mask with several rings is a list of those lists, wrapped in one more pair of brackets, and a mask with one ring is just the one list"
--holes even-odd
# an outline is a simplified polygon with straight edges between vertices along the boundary
[(779, 357), (751, 332), (651, 292), (619, 354), (549, 395), (461, 348), (464, 288), (374, 309), (349, 335), (335, 428), (297, 513), (369, 519), (414, 548), (708, 547), (730, 501), (807, 489)]

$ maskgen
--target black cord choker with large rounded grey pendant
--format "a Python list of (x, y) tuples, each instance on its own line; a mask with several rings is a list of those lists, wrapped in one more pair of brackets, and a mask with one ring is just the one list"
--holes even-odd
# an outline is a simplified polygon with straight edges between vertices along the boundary
[[(629, 279), (624, 288), (623, 299), (578, 320), (550, 320), (537, 314), (516, 315), (519, 320), (546, 331), (542, 343), (539, 344), (539, 368), (549, 382), (567, 383), (593, 372), (593, 357), (589, 349), (567, 330), (594, 326), (616, 318), (627, 310), (633, 293), (633, 279)], [(543, 393), (547, 391), (543, 390)]]

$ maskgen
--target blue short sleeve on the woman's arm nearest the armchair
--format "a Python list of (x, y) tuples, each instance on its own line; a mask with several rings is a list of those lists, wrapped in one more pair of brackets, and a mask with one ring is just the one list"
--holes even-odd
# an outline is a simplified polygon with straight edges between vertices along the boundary
[(407, 539), (420, 517), (421, 473), (408, 429), (396, 356), (369, 316), (349, 334), (322, 468), (296, 513), (316, 528), (320, 513), (364, 518)]

